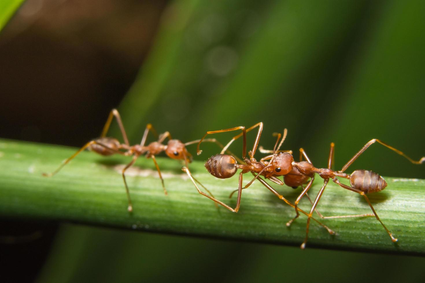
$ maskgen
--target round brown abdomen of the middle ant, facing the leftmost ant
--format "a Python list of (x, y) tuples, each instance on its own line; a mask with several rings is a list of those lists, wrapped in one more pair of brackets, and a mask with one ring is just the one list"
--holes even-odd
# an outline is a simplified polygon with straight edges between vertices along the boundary
[(238, 163), (235, 157), (227, 154), (216, 154), (205, 163), (205, 168), (214, 177), (227, 179), (238, 171)]

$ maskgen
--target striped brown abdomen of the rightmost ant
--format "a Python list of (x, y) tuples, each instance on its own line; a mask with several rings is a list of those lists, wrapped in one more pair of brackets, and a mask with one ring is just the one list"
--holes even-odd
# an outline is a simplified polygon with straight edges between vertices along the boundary
[(364, 193), (374, 193), (385, 189), (387, 182), (379, 174), (369, 170), (356, 170), (350, 176), (351, 187)]

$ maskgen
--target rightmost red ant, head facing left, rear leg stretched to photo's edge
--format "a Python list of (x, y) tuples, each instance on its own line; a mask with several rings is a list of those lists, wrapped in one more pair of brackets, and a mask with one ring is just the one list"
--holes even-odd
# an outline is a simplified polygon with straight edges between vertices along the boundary
[[(286, 132), (286, 129), (285, 129)], [(282, 140), (283, 141), (283, 140)], [(392, 146), (389, 146), (386, 143), (383, 143), (380, 140), (372, 139), (368, 143), (363, 146), (362, 149), (360, 149), (357, 154), (355, 154), (347, 163), (343, 166), (343, 168), (339, 171), (333, 171), (332, 163), (334, 160), (334, 143), (331, 143), (331, 148), (329, 151), (329, 158), (328, 158), (328, 168), (316, 168), (312, 165), (312, 162), (310, 161), (309, 157), (307, 156), (306, 152), (301, 148), (300, 149), (300, 162), (295, 162), (294, 158), (292, 157), (292, 154), (288, 152), (282, 152), (282, 153), (273, 153), (273, 161), (270, 161), (271, 166), (268, 171), (273, 172), (275, 176), (283, 175), (284, 176), (284, 182), (286, 185), (289, 185), (291, 187), (297, 187), (302, 186), (307, 179), (311, 178), (308, 184), (305, 188), (303, 188), (303, 191), (300, 193), (300, 195), (297, 197), (297, 200), (295, 201), (295, 212), (296, 216), (295, 218), (291, 219), (288, 223), (286, 223), (286, 226), (289, 226), (292, 221), (294, 221), (298, 216), (298, 210), (297, 205), (300, 202), (300, 199), (309, 191), (309, 189), (312, 186), (312, 183), (314, 181), (314, 174), (317, 173), (321, 178), (324, 179), (323, 186), (320, 189), (319, 193), (317, 193), (316, 199), (314, 200), (312, 204), (312, 208), (308, 214), (307, 219), (307, 227), (306, 227), (306, 238), (304, 242), (301, 244), (301, 248), (304, 249), (306, 246), (306, 242), (308, 239), (309, 234), (309, 225), (310, 225), (310, 218), (312, 217), (313, 211), (316, 209), (318, 202), (320, 201), (320, 197), (323, 194), (323, 191), (326, 188), (326, 185), (329, 182), (329, 179), (331, 179), (333, 182), (335, 182), (337, 185), (339, 185), (342, 188), (345, 188), (349, 191), (353, 191), (355, 193), (359, 193), (360, 195), (364, 196), (366, 202), (371, 207), (371, 210), (373, 214), (360, 214), (360, 215), (347, 215), (347, 216), (329, 216), (329, 217), (322, 217), (322, 218), (342, 218), (342, 217), (361, 217), (361, 216), (375, 216), (375, 218), (382, 224), (382, 227), (384, 227), (385, 231), (387, 231), (388, 235), (391, 237), (391, 240), (393, 242), (397, 241), (397, 238), (394, 238), (392, 233), (385, 227), (385, 225), (382, 223), (380, 218), (378, 217), (378, 214), (376, 213), (374, 207), (372, 206), (371, 202), (369, 201), (369, 198), (367, 196), (368, 193), (374, 193), (378, 191), (382, 191), (386, 186), (387, 183), (385, 182), (384, 178), (382, 178), (379, 174), (368, 171), (368, 170), (355, 170), (351, 175), (344, 173), (346, 169), (362, 154), (366, 149), (368, 149), (369, 146), (371, 146), (373, 143), (378, 142), (382, 144), (383, 146), (387, 147), (388, 149), (391, 149), (392, 151), (395, 151), (397, 154), (402, 155), (406, 159), (408, 159), (411, 163), (414, 164), (421, 164), (425, 161), (425, 157), (422, 157), (419, 161), (414, 161), (401, 151), (393, 148)], [(263, 153), (267, 153), (270, 151), (265, 151), (260, 147), (260, 151)], [(302, 157), (304, 157), (307, 161), (302, 161)], [(350, 185), (345, 185), (340, 182), (340, 178), (345, 178), (350, 180)]]

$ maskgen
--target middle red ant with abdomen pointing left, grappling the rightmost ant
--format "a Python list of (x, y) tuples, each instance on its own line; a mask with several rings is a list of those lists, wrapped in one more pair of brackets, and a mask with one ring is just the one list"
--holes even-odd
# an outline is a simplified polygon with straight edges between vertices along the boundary
[[(252, 150), (249, 151), (249, 158), (246, 158), (246, 132), (251, 131), (255, 127), (258, 127), (257, 137), (255, 139), (254, 146), (252, 147)], [(276, 146), (277, 146), (278, 141), (280, 139), (280, 134), (278, 135), (278, 140), (276, 141), (275, 149), (273, 150), (272, 156), (264, 157), (259, 162), (257, 160), (255, 160), (255, 158), (254, 158), (255, 151), (257, 150), (258, 143), (259, 143), (259, 140), (260, 140), (261, 132), (263, 130), (263, 123), (262, 122), (257, 123), (257, 124), (255, 124), (254, 126), (248, 128), (248, 129), (245, 129), (244, 126), (239, 126), (239, 127), (230, 128), (230, 129), (207, 132), (204, 135), (204, 137), (202, 137), (202, 139), (199, 140), (199, 142), (198, 142), (197, 153), (201, 154), (201, 151), (199, 150), (199, 145), (201, 144), (202, 141), (205, 140), (205, 137), (208, 134), (215, 134), (215, 133), (221, 133), (221, 132), (231, 132), (231, 131), (235, 131), (235, 130), (239, 130), (239, 129), (242, 130), (242, 133), (233, 137), (232, 140), (230, 140), (229, 143), (227, 143), (227, 145), (224, 146), (224, 148), (223, 148), (223, 150), (221, 151), (220, 154), (216, 154), (216, 155), (210, 157), (210, 159), (208, 159), (207, 162), (205, 163), (205, 167), (207, 168), (208, 172), (210, 172), (210, 174), (212, 174), (214, 177), (217, 177), (217, 178), (220, 178), (220, 179), (230, 178), (233, 175), (235, 175), (235, 173), (236, 173), (236, 171), (238, 171), (238, 169), (242, 170), (239, 173), (239, 186), (238, 186), (238, 197), (237, 197), (237, 201), (236, 201), (236, 207), (233, 209), (229, 205), (226, 205), (225, 203), (219, 201), (218, 199), (215, 199), (213, 196), (209, 196), (208, 194), (199, 190), (198, 186), (195, 183), (195, 179), (192, 177), (192, 174), (190, 173), (189, 169), (184, 167), (183, 171), (185, 171), (187, 173), (187, 175), (189, 176), (189, 178), (192, 180), (193, 184), (195, 185), (195, 188), (198, 190), (198, 193), (200, 193), (203, 196), (206, 196), (209, 199), (212, 199), (214, 202), (226, 207), (228, 210), (230, 210), (232, 212), (238, 212), (239, 207), (241, 205), (242, 189), (248, 188), (249, 185), (251, 185), (252, 182), (254, 182), (255, 179), (258, 179), (261, 182), (261, 184), (263, 184), (267, 189), (269, 189), (272, 193), (274, 193), (276, 196), (278, 196), (279, 199), (282, 199), (284, 202), (286, 202), (291, 207), (295, 207), (295, 205), (293, 205), (291, 202), (289, 202), (287, 199), (285, 199), (282, 195), (280, 195), (277, 191), (275, 191), (275, 189), (273, 189), (264, 179), (262, 179), (260, 177), (260, 175), (261, 175), (261, 176), (265, 177), (266, 179), (271, 180), (272, 182), (275, 182), (279, 185), (283, 185), (283, 182), (280, 181), (278, 178), (276, 178), (274, 176), (275, 175), (274, 172), (272, 170), (268, 170), (269, 168), (271, 168), (272, 165), (268, 165), (264, 162), (265, 159), (271, 159), (269, 164), (274, 164), (273, 159), (278, 157), (276, 152), (279, 152), (279, 148), (276, 149)], [(230, 146), (230, 144), (241, 136), (243, 136), (242, 157), (244, 159), (245, 164), (238, 164), (238, 162), (242, 163), (242, 161), (238, 159), (238, 162), (237, 162), (237, 160), (236, 160), (237, 158), (233, 157), (232, 155), (224, 154), (224, 152), (227, 150), (227, 148)], [(286, 134), (285, 134), (285, 136), (286, 136)], [(283, 137), (283, 139), (285, 138), (285, 136)], [(283, 142), (283, 140), (282, 140), (282, 142)], [(280, 143), (280, 145), (281, 144), (282, 143)], [(279, 145), (279, 147), (280, 147), (280, 145)], [(289, 152), (292, 153), (292, 151), (289, 151)], [(288, 151), (280, 151), (280, 153), (288, 153)], [(288, 153), (288, 154), (290, 154), (290, 153)], [(248, 173), (248, 172), (251, 172), (255, 177), (247, 185), (242, 187), (242, 176), (243, 176), (243, 174)], [(257, 173), (257, 174), (255, 175), (255, 173)], [(198, 182), (198, 181), (196, 180), (196, 182)], [(201, 183), (199, 183), (199, 184), (201, 184)], [(297, 211), (300, 211), (301, 213), (309, 215), (308, 213), (301, 210), (300, 208), (297, 208)], [(324, 228), (326, 228), (326, 230), (328, 230), (328, 232), (331, 235), (334, 234), (334, 231), (329, 229), (329, 227), (327, 227), (326, 225), (317, 221), (313, 217), (312, 217), (312, 219), (314, 221), (316, 221), (317, 223), (319, 223)]]

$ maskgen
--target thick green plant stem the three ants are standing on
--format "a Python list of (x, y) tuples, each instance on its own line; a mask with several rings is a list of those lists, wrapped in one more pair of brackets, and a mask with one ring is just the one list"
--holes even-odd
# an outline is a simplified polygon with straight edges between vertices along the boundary
[[(176, 233), (237, 241), (258, 241), (299, 245), (305, 237), (306, 217), (301, 215), (290, 228), (285, 226), (295, 211), (254, 182), (242, 193), (241, 209), (232, 213), (198, 194), (181, 171), (178, 161), (158, 158), (168, 196), (165, 196), (153, 162), (140, 157), (127, 174), (133, 213), (127, 212), (127, 198), (120, 170), (129, 157), (101, 157), (82, 152), (54, 177), (43, 177), (76, 151), (74, 148), (0, 140), (0, 216), (8, 219), (45, 219)], [(237, 188), (237, 177), (215, 179), (203, 163), (190, 169), (216, 198), (234, 207), (229, 193)], [(353, 169), (354, 170), (354, 169)], [(237, 175), (237, 174), (236, 174)], [(252, 176), (245, 174), (244, 184)], [(399, 239), (391, 242), (373, 217), (324, 219), (337, 232), (331, 236), (312, 222), (307, 247), (425, 254), (425, 181), (385, 178), (388, 188), (370, 195), (378, 215)], [(317, 178), (311, 196), (322, 182)], [(300, 193), (273, 185), (292, 202)], [(307, 199), (300, 207), (308, 210)], [(325, 216), (371, 213), (356, 193), (329, 183), (318, 205)], [(314, 217), (317, 217), (315, 214)], [(319, 219), (317, 217), (317, 219)]]

